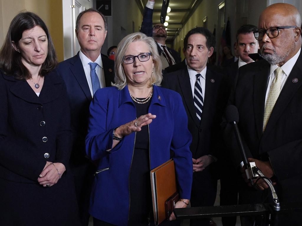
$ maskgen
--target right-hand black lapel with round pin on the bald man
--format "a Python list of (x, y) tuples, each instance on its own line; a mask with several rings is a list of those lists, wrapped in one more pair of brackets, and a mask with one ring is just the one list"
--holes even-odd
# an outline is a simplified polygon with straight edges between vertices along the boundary
[[(302, 84), (301, 61), (302, 55), (300, 54), (299, 58), (297, 59), (297, 62), (295, 63), (293, 69), (291, 70), (291, 73), (289, 74), (284, 84), (283, 89), (281, 90), (281, 93), (276, 101), (273, 111), (271, 112), (271, 116), (268, 119), (268, 123), (263, 133), (263, 138), (265, 138), (265, 136), (267, 136), (274, 128), (274, 125), (282, 115), (284, 109), (287, 107), (288, 103), (291, 101), (292, 97)], [(296, 83), (292, 82), (294, 78), (298, 79)]]

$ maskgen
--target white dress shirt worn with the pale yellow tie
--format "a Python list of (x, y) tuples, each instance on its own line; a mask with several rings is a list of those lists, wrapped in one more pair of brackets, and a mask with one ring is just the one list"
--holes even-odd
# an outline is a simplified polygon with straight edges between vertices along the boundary
[[(289, 74), (291, 73), (291, 70), (293, 69), (299, 55), (301, 52), (301, 48), (299, 49), (299, 51), (292, 57), (290, 58), (285, 64), (283, 64), (281, 66), (283, 72), (282, 72), (282, 80), (281, 80), (281, 90), (283, 89), (283, 86), (289, 76)], [(271, 83), (273, 82), (274, 78), (275, 78), (275, 73), (274, 71), (276, 70), (278, 66), (276, 64), (271, 64), (271, 70), (269, 72), (269, 77), (268, 77), (268, 83), (267, 83), (267, 89), (266, 89), (266, 95), (265, 95), (265, 103), (267, 101), (267, 97), (268, 97), (268, 93), (269, 93), (269, 89), (271, 88)], [(281, 91), (280, 91), (281, 92)]]

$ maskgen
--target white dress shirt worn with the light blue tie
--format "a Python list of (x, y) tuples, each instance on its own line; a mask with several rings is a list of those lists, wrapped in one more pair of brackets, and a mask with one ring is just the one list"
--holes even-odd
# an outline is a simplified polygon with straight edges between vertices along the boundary
[[(93, 89), (92, 89), (92, 81), (91, 81), (91, 76), (90, 76), (90, 65), (89, 65), (89, 63), (91, 63), (92, 61), (88, 57), (86, 57), (84, 55), (84, 53), (82, 53), (81, 50), (80, 50), (79, 56), (80, 56), (80, 59), (81, 59), (82, 64), (83, 64), (83, 68), (84, 68), (84, 71), (85, 71), (85, 76), (86, 76), (86, 80), (87, 80), (87, 83), (88, 83), (88, 86), (89, 86), (89, 89), (90, 89), (91, 96), (93, 97)], [(98, 75), (98, 80), (100, 81), (101, 88), (106, 87), (101, 53), (98, 56), (98, 58), (92, 63), (97, 63), (98, 64), (95, 68), (95, 73)]]

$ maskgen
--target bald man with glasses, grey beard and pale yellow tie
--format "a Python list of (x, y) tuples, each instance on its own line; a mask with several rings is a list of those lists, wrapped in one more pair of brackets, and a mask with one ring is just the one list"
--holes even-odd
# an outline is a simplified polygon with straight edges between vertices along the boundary
[[(301, 18), (293, 5), (268, 6), (254, 32), (265, 60), (240, 67), (230, 102), (238, 108), (238, 127), (249, 161), (276, 183), (282, 202), (302, 201), (302, 55)], [(234, 160), (242, 161), (230, 125), (226, 142)], [(242, 169), (243, 172), (244, 168)], [(240, 203), (267, 202), (268, 186), (259, 180), (260, 191), (246, 186)], [(279, 215), (278, 225), (300, 225), (301, 211)], [(245, 218), (245, 225), (253, 225)], [(276, 224), (274, 224), (276, 225)]]

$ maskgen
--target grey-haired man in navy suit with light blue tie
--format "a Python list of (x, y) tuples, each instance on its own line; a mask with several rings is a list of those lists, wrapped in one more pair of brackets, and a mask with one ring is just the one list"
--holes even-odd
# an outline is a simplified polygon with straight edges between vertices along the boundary
[(70, 165), (83, 226), (88, 225), (89, 196), (95, 170), (92, 162), (85, 158), (89, 105), (96, 90), (111, 86), (114, 80), (114, 61), (101, 54), (106, 34), (107, 23), (101, 13), (94, 9), (81, 12), (76, 20), (76, 36), (81, 50), (57, 67), (69, 96), (73, 132)]

